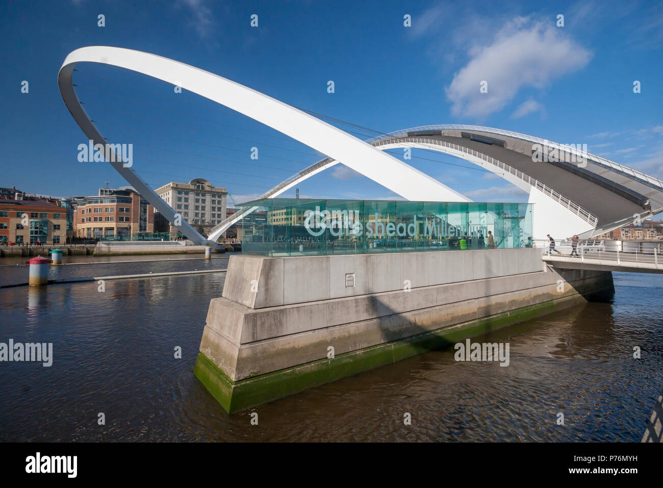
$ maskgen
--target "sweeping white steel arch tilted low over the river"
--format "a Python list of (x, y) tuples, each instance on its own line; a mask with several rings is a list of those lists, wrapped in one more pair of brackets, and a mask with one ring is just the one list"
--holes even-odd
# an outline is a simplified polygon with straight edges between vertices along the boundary
[[(336, 161), (341, 161), (405, 199), (469, 201), (460, 193), (410, 165), (288, 104), (200, 68), (133, 49), (111, 46), (79, 48), (68, 54), (58, 73), (62, 100), (76, 123), (95, 145), (105, 145), (106, 141), (82, 108), (74, 91), (72, 75), (76, 64), (80, 62), (118, 66), (181, 86), (265, 123)], [(115, 161), (118, 160), (116, 157)], [(175, 222), (175, 211), (156, 195), (131, 167), (124, 167), (121, 162), (111, 165), (168, 221)], [(207, 240), (184, 219), (178, 228), (196, 244)], [(214, 241), (220, 234), (221, 232), (213, 232), (209, 238)]]

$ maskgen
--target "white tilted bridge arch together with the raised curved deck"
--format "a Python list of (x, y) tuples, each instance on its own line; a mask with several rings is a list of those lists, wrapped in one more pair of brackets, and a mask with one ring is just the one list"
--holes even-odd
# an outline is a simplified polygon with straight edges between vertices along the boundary
[[(71, 52), (58, 74), (60, 94), (74, 120), (95, 145), (106, 141), (82, 108), (72, 74), (79, 62), (95, 62), (132, 70), (163, 80), (269, 125), (328, 155), (327, 159), (293, 175), (261, 198), (278, 197), (305, 179), (337, 163), (361, 173), (407, 200), (457, 201), (469, 199), (440, 181), (383, 152), (393, 148), (439, 151), (479, 165), (526, 191), (534, 203), (534, 238), (572, 236), (587, 239), (636, 219), (663, 211), (663, 181), (615, 161), (566, 145), (512, 131), (477, 125), (426, 125), (403, 129), (362, 141), (341, 129), (216, 74), (156, 54), (137, 50), (90, 46)], [(545, 157), (533, 155), (571, 155)], [(229, 226), (252, 211), (237, 212), (203, 236), (137, 175), (121, 157), (110, 164), (149, 203), (192, 242), (215, 242)], [(581, 163), (573, 162), (581, 161)], [(177, 220), (177, 221), (176, 221)], [(181, 220), (181, 222), (180, 222)]]

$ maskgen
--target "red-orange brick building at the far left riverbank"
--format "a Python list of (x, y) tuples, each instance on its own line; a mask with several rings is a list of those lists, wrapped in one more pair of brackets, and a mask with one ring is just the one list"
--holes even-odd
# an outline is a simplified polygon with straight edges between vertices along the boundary
[(64, 244), (66, 208), (42, 200), (0, 199), (0, 244)]

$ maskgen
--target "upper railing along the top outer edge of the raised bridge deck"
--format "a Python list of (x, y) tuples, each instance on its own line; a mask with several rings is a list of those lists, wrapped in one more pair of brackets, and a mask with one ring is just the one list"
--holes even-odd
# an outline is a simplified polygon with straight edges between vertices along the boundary
[(580, 151), (578, 149), (575, 149), (573, 147), (567, 147), (565, 145), (553, 142), (553, 141), (548, 141), (548, 139), (541, 139), (540, 137), (534, 137), (533, 135), (527, 135), (523, 134), (520, 132), (513, 132), (513, 131), (507, 131), (504, 129), (495, 129), (495, 127), (484, 127), (482, 125), (463, 125), (463, 124), (438, 124), (438, 125), (421, 125), (420, 127), (411, 127), (410, 129), (402, 129), (400, 131), (394, 131), (390, 132), (387, 134), (379, 135), (377, 137), (372, 137), (371, 139), (368, 139), (366, 142), (367, 143), (373, 143), (375, 141), (379, 141), (381, 139), (389, 139), (391, 137), (394, 137), (396, 135), (402, 135), (406, 134), (408, 132), (413, 132), (413, 131), (420, 131), (420, 130), (448, 130), (448, 129), (465, 129), (465, 130), (475, 130), (475, 131), (481, 131), (481, 132), (488, 132), (488, 133), (493, 133), (493, 134), (499, 134), (499, 135), (507, 135), (509, 137), (514, 137), (516, 139), (522, 139), (523, 141), (528, 141), (528, 142), (534, 142), (534, 143), (539, 143), (542, 145), (547, 145), (548, 147), (555, 147), (556, 149), (561, 149), (564, 151), (572, 152), (575, 153), (576, 155), (579, 155), (580, 157), (583, 157), (583, 159), (589, 159), (593, 161), (594, 163), (597, 163), (599, 165), (603, 165), (605, 167), (609, 167), (611, 169), (617, 169), (617, 171), (621, 171), (622, 173), (627, 173), (627, 175), (631, 175), (637, 179), (640, 179), (642, 181), (645, 181), (646, 183), (649, 183), (650, 185), (656, 185), (663, 189), (663, 181), (651, 176), (651, 175), (646, 175), (645, 173), (642, 173), (642, 171), (638, 171), (637, 169), (629, 168), (627, 166), (621, 165), (620, 163), (617, 163), (616, 161), (611, 161), (610, 159), (605, 159), (605, 157), (601, 157), (599, 155), (595, 155), (592, 153), (588, 153), (586, 151)]

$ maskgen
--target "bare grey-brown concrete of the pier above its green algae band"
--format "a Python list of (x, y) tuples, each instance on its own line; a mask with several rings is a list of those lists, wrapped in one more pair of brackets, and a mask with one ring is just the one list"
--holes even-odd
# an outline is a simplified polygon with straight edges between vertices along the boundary
[[(558, 272), (540, 253), (232, 256), (223, 297), (211, 300), (200, 351), (239, 381), (324, 359), (330, 346), (342, 355), (516, 309), (585, 303), (583, 295), (612, 287), (609, 273)], [(344, 287), (349, 271), (358, 281), (354, 289)], [(412, 280), (410, 291), (400, 285), (404, 277)], [(255, 293), (251, 279), (258, 283)]]

